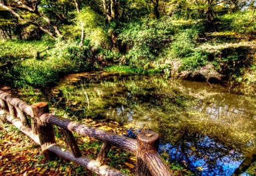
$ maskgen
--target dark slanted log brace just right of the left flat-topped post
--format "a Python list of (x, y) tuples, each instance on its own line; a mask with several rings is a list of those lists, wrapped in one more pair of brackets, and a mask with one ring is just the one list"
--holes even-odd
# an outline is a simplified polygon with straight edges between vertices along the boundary
[(82, 154), (79, 150), (79, 147), (76, 144), (76, 139), (74, 138), (72, 132), (65, 128), (61, 128), (61, 130), (63, 131), (63, 133), (67, 139), (67, 143), (68, 143), (69, 147), (71, 148), (71, 151), (72, 151), (74, 157), (78, 158), (78, 157), (82, 156)]

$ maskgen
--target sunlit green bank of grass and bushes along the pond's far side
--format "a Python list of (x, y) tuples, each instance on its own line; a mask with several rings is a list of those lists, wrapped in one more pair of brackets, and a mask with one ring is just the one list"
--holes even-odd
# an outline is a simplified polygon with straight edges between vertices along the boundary
[[(234, 92), (254, 94), (253, 15), (252, 10), (220, 15), (214, 19), (214, 29), (207, 20), (175, 16), (146, 16), (108, 25), (101, 22), (86, 27), (88, 33), (81, 48), (76, 41), (79, 31), (72, 33), (71, 26), (66, 31), (69, 39), (5, 41), (0, 45), (1, 63), (10, 60), (15, 65), (8, 72), (0, 71), (0, 76), (15, 87), (47, 87), (72, 72), (104, 69), (127, 74), (163, 73), (167, 78), (225, 81)], [(94, 14), (84, 20), (92, 23), (95, 18)], [(96, 27), (100, 32), (92, 35)], [(36, 59), (36, 52), (41, 51)]]

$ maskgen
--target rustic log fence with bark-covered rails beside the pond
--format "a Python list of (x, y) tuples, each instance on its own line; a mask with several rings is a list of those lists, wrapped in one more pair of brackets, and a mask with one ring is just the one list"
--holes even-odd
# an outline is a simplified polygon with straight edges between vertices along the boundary
[[(120, 136), (112, 132), (99, 130), (85, 124), (59, 118), (49, 114), (48, 104), (39, 102), (28, 105), (19, 98), (0, 90), (0, 109), (5, 111), (5, 118), (36, 143), (40, 144), (44, 157), (53, 160), (55, 156), (77, 162), (86, 169), (100, 175), (126, 175), (121, 171), (103, 165), (112, 145), (135, 154), (137, 157), (135, 175), (165, 176), (172, 175), (170, 169), (162, 161), (158, 151), (159, 135), (154, 131), (141, 131), (137, 140)], [(30, 121), (28, 118), (30, 117)], [(69, 148), (56, 144), (53, 125), (63, 129)], [(82, 136), (90, 136), (103, 142), (96, 160), (83, 156), (73, 136), (76, 132)]]

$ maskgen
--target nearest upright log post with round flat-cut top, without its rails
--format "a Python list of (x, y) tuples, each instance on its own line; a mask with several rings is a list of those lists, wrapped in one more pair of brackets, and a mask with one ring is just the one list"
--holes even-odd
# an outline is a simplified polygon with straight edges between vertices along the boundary
[(158, 150), (159, 135), (154, 131), (141, 131), (137, 135), (137, 161), (136, 176), (151, 175), (146, 163), (142, 160), (143, 153), (147, 151), (156, 152)]

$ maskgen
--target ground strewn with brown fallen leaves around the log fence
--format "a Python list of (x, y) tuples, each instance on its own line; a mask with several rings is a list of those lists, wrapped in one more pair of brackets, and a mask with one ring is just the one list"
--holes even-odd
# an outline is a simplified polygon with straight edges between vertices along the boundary
[[(96, 124), (89, 119), (86, 119), (85, 122), (92, 126), (101, 126), (101, 129), (107, 131), (113, 131), (114, 128), (115, 131), (123, 131), (123, 129), (118, 128), (118, 125), (114, 122), (105, 123), (105, 125)], [(61, 131), (55, 128), (55, 132), (57, 134), (57, 143), (65, 146)], [(88, 137), (76, 137), (76, 139), (77, 143), (80, 144), (79, 146), (83, 154), (96, 158), (96, 154), (101, 147), (100, 142)], [(118, 149), (112, 150), (113, 151), (110, 151), (110, 153), (114, 154), (115, 158), (119, 157)], [(136, 161), (135, 156), (131, 156), (131, 154), (128, 153), (123, 155), (124, 156), (119, 157), (119, 160), (124, 161), (122, 157), (125, 157), (127, 161), (118, 164), (110, 161), (108, 158), (106, 162), (113, 163), (106, 164), (118, 164), (117, 168), (123, 169), (123, 171), (127, 173), (133, 173)], [(126, 155), (129, 156), (126, 157)], [(97, 175), (75, 162), (61, 158), (56, 158), (56, 160), (49, 162), (45, 161), (41, 153), (40, 145), (36, 144), (28, 136), (19, 131), (18, 128), (9, 123), (0, 125), (0, 166), (0, 175)]]

